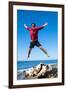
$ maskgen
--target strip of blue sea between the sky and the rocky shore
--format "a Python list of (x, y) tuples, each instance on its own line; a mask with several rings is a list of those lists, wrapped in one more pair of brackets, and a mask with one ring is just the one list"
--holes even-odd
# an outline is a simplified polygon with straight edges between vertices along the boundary
[(55, 60), (32, 60), (32, 61), (29, 61), (29, 60), (18, 60), (17, 61), (17, 70), (22, 70), (22, 69), (28, 69), (28, 68), (31, 68), (31, 67), (34, 67), (40, 63), (44, 63), (44, 64), (58, 64), (58, 60), (55, 59)]

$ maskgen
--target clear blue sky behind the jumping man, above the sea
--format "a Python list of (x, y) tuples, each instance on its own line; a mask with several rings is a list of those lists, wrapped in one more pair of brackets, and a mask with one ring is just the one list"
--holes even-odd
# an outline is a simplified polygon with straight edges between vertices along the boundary
[(17, 10), (17, 49), (18, 60), (27, 60), (27, 52), (30, 45), (29, 31), (24, 28), (24, 24), (31, 27), (31, 23), (37, 26), (48, 22), (48, 26), (39, 31), (38, 39), (51, 57), (38, 48), (34, 47), (30, 60), (50, 60), (57, 59), (58, 56), (58, 13), (52, 11)]

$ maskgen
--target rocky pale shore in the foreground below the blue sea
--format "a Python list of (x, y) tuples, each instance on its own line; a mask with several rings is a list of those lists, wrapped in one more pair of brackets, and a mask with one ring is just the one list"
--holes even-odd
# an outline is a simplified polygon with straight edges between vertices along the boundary
[(40, 63), (28, 69), (17, 70), (17, 79), (56, 78), (58, 76), (57, 64)]

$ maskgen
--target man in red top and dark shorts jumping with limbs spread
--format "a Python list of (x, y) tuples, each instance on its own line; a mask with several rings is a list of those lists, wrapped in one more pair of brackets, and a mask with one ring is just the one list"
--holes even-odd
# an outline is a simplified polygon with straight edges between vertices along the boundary
[(42, 26), (36, 27), (36, 24), (32, 23), (31, 24), (32, 27), (30, 28), (26, 24), (24, 24), (24, 27), (30, 32), (30, 38), (31, 38), (27, 59), (30, 57), (30, 53), (32, 51), (32, 48), (34, 48), (34, 46), (39, 47), (40, 50), (42, 50), (46, 54), (46, 56), (49, 57), (47, 51), (42, 47), (42, 45), (38, 41), (38, 31), (43, 29), (47, 25), (48, 23), (45, 23)]

